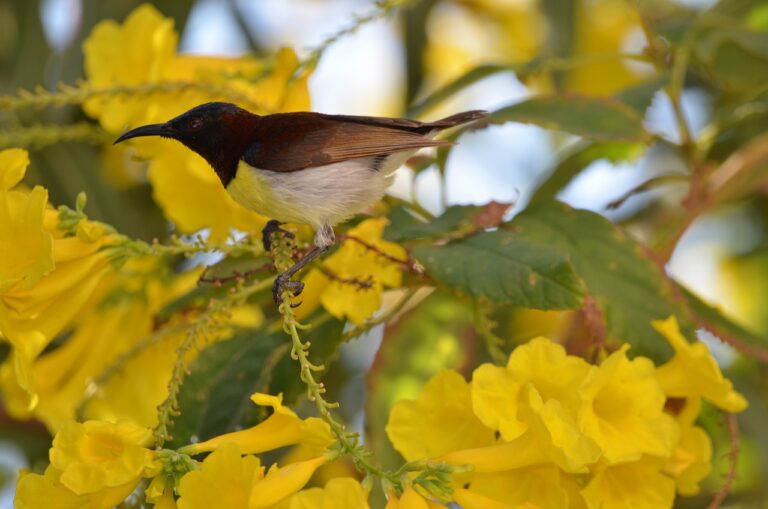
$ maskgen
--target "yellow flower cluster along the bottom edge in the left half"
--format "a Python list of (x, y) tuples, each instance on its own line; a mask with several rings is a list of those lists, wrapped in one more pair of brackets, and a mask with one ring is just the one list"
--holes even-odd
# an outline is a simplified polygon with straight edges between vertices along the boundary
[[(334, 478), (324, 489), (301, 491), (320, 466), (334, 458), (328, 425), (300, 419), (280, 397), (256, 393), (252, 400), (273, 413), (260, 424), (178, 451), (147, 448), (152, 433), (127, 421), (66, 423), (57, 433), (45, 473), (24, 473), (16, 507), (110, 508), (134, 492), (143, 478), (146, 499), (163, 509), (291, 509), (367, 507), (367, 491), (351, 478)], [(268, 470), (256, 454), (286, 446), (302, 459)], [(192, 456), (210, 452), (202, 462)], [(294, 455), (296, 456), (296, 455)]]

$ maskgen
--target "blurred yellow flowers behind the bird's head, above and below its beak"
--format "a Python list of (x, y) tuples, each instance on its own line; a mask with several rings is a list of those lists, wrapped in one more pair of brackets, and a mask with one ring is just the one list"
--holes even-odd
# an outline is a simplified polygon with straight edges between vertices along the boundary
[[(173, 20), (152, 5), (134, 10), (120, 25), (102, 21), (83, 45), (88, 85), (103, 93), (83, 105), (115, 135), (139, 125), (165, 122), (209, 101), (235, 102), (254, 113), (309, 109), (306, 72), (292, 50), (273, 60), (180, 55)], [(299, 73), (298, 76), (295, 74)], [(183, 232), (210, 228), (226, 239), (231, 228), (258, 231), (261, 216), (237, 205), (208, 164), (181, 145), (160, 139), (135, 143), (149, 160), (148, 177), (165, 216)], [(130, 181), (126, 150), (110, 147), (111, 174)], [(129, 152), (134, 153), (134, 152)], [(183, 192), (179, 183), (183, 182)], [(205, 207), (200, 207), (200, 203)]]

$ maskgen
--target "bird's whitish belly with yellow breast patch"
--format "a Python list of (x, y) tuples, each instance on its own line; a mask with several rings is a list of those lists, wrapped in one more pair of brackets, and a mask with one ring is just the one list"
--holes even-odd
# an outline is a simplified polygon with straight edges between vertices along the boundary
[(294, 172), (254, 168), (240, 161), (227, 192), (236, 202), (271, 219), (333, 226), (384, 196), (392, 173), (412, 152), (391, 155), (378, 170), (370, 157)]

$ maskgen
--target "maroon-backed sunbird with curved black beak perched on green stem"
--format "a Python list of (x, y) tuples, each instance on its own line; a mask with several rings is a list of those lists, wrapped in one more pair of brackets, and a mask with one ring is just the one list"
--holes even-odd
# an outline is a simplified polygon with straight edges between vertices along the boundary
[(209, 102), (165, 123), (131, 129), (114, 143), (160, 136), (199, 154), (237, 203), (271, 218), (262, 232), (267, 251), (270, 235), (285, 232), (280, 225), (311, 226), (312, 250), (275, 278), (272, 294), (279, 305), (283, 290), (301, 293), (303, 283), (291, 278), (330, 249), (333, 227), (378, 202), (395, 170), (413, 153), (451, 145), (433, 137), (487, 116), (471, 110), (420, 122), (318, 112), (257, 115), (235, 104)]

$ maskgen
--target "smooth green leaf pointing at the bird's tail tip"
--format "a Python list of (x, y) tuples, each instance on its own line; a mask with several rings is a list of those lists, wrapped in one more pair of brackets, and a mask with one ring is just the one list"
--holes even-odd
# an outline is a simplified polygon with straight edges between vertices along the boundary
[(644, 141), (648, 134), (635, 110), (616, 99), (541, 95), (491, 114), (493, 123), (524, 122), (598, 141)]

